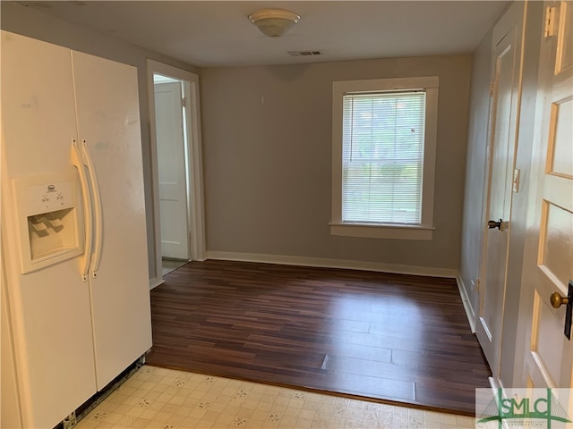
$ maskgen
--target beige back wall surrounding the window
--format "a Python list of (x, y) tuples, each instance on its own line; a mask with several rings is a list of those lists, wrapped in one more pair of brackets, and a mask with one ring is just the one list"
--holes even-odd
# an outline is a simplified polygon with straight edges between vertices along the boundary
[[(459, 266), (470, 55), (207, 68), (201, 104), (209, 252)], [(440, 76), (431, 241), (331, 236), (334, 80)]]

